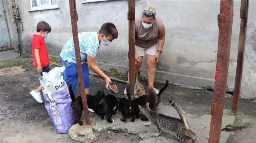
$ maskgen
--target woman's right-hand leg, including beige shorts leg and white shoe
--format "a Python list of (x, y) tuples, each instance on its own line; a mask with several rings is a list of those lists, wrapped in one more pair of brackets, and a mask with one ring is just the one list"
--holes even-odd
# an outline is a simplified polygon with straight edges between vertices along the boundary
[[(157, 44), (145, 50), (147, 58), (147, 74), (148, 74), (148, 85), (154, 88), (155, 76), (156, 76), (156, 60), (155, 56), (157, 54)], [(156, 94), (159, 90), (155, 89)]]

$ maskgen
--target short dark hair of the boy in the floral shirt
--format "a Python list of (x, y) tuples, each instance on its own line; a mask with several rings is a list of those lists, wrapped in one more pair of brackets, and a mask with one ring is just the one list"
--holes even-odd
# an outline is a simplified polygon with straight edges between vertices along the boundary
[(99, 34), (103, 34), (107, 37), (112, 37), (113, 39), (117, 39), (118, 31), (116, 29), (116, 25), (111, 22), (103, 23), (100, 27)]

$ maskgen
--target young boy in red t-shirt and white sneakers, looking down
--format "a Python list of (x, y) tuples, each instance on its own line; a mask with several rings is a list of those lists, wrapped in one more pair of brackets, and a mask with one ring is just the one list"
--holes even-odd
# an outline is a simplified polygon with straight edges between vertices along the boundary
[[(32, 39), (32, 54), (35, 68), (37, 68), (37, 72), (43, 75), (43, 72), (48, 73), (51, 68), (50, 60), (48, 57), (48, 52), (46, 49), (46, 45), (44, 42), (44, 38), (48, 36), (48, 33), (51, 32), (51, 26), (45, 21), (41, 21), (36, 25), (36, 34), (33, 35)], [(43, 103), (43, 99), (41, 96), (41, 85), (30, 92), (30, 94), (36, 99), (38, 103)]]

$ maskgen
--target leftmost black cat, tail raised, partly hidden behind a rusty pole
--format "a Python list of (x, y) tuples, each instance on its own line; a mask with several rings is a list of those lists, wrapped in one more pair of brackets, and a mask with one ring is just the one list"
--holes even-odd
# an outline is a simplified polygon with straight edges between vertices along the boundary
[[(73, 110), (76, 112), (76, 122), (79, 125), (84, 125), (83, 122), (80, 120), (82, 113), (83, 113), (83, 102), (82, 102), (82, 97), (78, 96), (75, 98), (74, 92), (72, 90), (72, 83), (70, 82), (68, 84), (68, 90), (69, 94), (72, 100), (71, 107)], [(97, 115), (100, 116), (99, 112), (99, 102), (100, 100), (105, 96), (104, 91), (98, 91), (94, 96), (87, 94), (86, 99), (87, 99), (87, 106), (88, 108), (92, 109)]]

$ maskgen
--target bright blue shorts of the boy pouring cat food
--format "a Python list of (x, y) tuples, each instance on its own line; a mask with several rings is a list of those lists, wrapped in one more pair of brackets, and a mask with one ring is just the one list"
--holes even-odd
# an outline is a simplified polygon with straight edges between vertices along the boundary
[[(62, 60), (62, 59), (61, 59)], [(75, 63), (63, 61), (62, 60), (62, 65), (65, 66), (64, 70), (64, 78), (65, 82), (68, 83), (72, 82), (72, 90), (75, 93), (76, 92), (76, 83), (78, 81), (78, 74), (77, 74), (77, 67)], [(89, 75), (89, 67), (88, 64), (83, 63), (82, 64), (82, 69), (83, 69), (83, 75), (84, 75), (84, 87), (89, 88), (90, 87), (90, 75)], [(78, 84), (80, 87), (80, 84)]]

